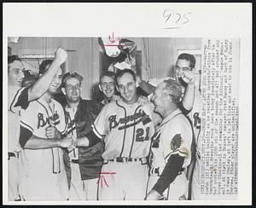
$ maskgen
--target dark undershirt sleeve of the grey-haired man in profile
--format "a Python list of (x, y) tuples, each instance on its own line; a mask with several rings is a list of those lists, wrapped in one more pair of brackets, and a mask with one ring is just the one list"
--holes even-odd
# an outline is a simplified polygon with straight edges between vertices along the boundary
[(166, 188), (175, 180), (177, 174), (183, 168), (184, 158), (178, 154), (171, 155), (160, 178), (154, 185), (154, 190), (163, 194)]

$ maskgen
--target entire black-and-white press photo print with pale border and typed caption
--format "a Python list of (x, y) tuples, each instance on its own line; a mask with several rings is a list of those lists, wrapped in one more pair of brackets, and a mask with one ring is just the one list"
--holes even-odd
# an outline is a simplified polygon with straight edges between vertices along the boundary
[[(241, 150), (250, 147), (252, 136), (241, 134), (250, 126), (244, 116), (251, 97), (242, 93), (241, 87), (250, 83), (241, 85), (241, 73), (251, 73), (245, 51), (250, 53), (252, 37), (200, 35), (200, 22), (189, 36), (202, 3), (190, 10), (186, 3), (158, 4), (156, 22), (161, 17), (161, 24), (153, 22), (152, 35), (146, 34), (148, 21), (146, 32), (140, 31), (141, 20), (132, 22), (144, 18), (139, 12), (131, 18), (133, 31), (126, 33), (122, 23), (129, 18), (112, 12), (126, 4), (59, 4), (5, 3), (5, 11), (27, 7), (35, 14), (46, 9), (49, 18), (55, 9), (62, 10), (56, 10), (60, 16), (49, 25), (35, 18), (35, 23), (45, 23), (40, 31), (49, 27), (48, 33), (33, 32), (32, 25), (12, 32), (8, 28), (18, 22), (4, 13), (9, 22), (3, 32), (3, 202), (249, 203), (241, 193), (249, 193), (245, 185), (251, 186), (251, 173), (241, 166), (251, 170), (251, 155)], [(241, 4), (249, 10), (250, 4)], [(143, 5), (154, 10), (154, 4)], [(78, 19), (63, 18), (67, 6), (74, 7), (71, 14), (78, 13)], [(125, 14), (136, 3), (126, 6)], [(101, 17), (109, 11), (107, 19), (117, 22), (106, 30), (103, 17), (87, 26), (89, 20), (84, 20), (84, 28), (76, 21), (76, 30), (62, 34), (73, 28), (72, 20), (79, 20), (83, 9), (102, 10)], [(236, 9), (234, 5), (234, 13)], [(62, 22), (56, 32), (61, 18), (67, 25)], [(233, 25), (231, 21), (230, 32)], [(241, 67), (245, 62), (247, 67)]]

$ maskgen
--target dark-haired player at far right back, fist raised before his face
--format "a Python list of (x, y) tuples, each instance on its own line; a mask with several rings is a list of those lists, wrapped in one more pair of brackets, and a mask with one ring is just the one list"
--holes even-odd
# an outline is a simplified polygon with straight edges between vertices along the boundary
[[(192, 145), (192, 161), (188, 168), (188, 179), (191, 181), (193, 176), (192, 199), (201, 199), (200, 196), (200, 177), (201, 177), (201, 92), (200, 92), (200, 70), (195, 69), (195, 56), (190, 54), (181, 54), (177, 57), (175, 66), (176, 77), (175, 79), (182, 84), (183, 90), (183, 105), (179, 105), (182, 112), (189, 118), (189, 122), (193, 125), (194, 138)], [(162, 80), (166, 80), (163, 78)], [(154, 83), (158, 80), (154, 79)], [(159, 82), (159, 81), (158, 81)], [(155, 89), (154, 84), (147, 83), (143, 80), (139, 82), (140, 87), (148, 94), (152, 93)], [(196, 146), (196, 153), (195, 153)], [(195, 159), (196, 157), (196, 159)], [(194, 169), (195, 167), (195, 169)], [(189, 192), (190, 194), (190, 192)], [(196, 196), (195, 196), (196, 195)]]

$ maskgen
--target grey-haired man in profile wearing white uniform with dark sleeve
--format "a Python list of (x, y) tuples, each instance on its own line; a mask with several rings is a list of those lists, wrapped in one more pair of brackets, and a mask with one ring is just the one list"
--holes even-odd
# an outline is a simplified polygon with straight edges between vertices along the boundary
[(186, 168), (191, 162), (193, 130), (189, 120), (177, 107), (182, 98), (180, 84), (171, 79), (154, 91), (154, 111), (163, 121), (153, 136), (151, 176), (146, 199), (187, 199), (189, 181)]

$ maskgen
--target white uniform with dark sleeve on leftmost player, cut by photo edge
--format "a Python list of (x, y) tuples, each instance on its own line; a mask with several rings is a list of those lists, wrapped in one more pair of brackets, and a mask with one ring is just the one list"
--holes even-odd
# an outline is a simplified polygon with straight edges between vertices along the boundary
[(26, 108), (27, 89), (16, 86), (8, 86), (8, 153), (12, 155), (8, 159), (8, 198), (19, 199), (19, 154), (20, 154), (20, 109)]

